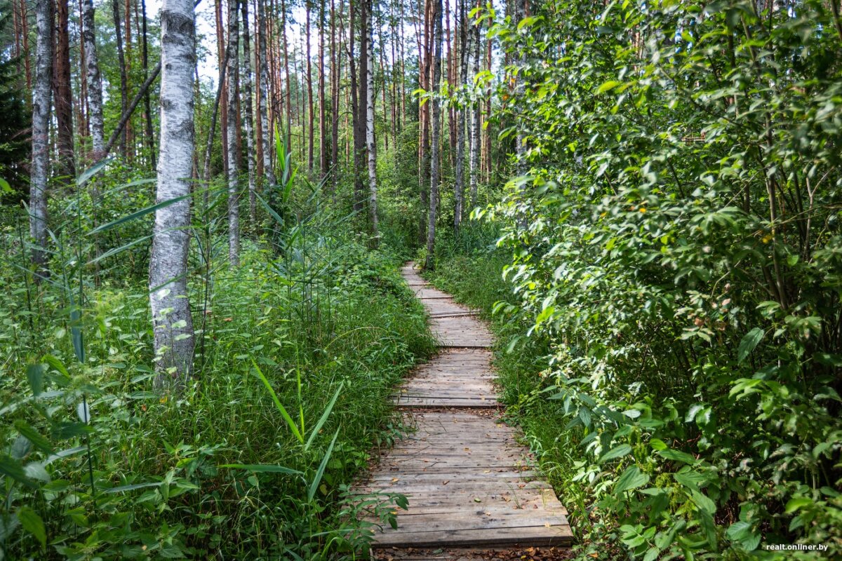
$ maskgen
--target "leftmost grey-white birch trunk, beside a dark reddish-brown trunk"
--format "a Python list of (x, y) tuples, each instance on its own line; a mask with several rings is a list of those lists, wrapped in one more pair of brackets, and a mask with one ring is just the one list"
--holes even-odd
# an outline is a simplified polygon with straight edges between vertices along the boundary
[(32, 167), (29, 169), (29, 235), (38, 277), (46, 274), (47, 180), (50, 175), (50, 108), (53, 61), (53, 0), (35, 2), (35, 89), (32, 93)]

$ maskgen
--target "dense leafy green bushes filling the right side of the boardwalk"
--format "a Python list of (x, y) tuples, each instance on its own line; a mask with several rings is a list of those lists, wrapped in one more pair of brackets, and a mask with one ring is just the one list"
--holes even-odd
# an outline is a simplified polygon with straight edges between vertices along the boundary
[(586, 551), (838, 555), (838, 16), (555, 0), (492, 33), (526, 174), (481, 214), (548, 345)]

